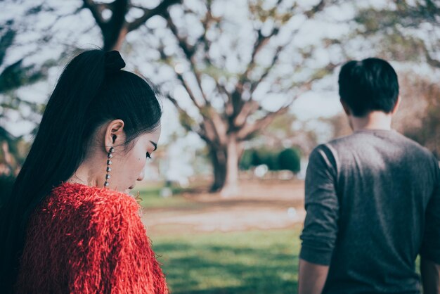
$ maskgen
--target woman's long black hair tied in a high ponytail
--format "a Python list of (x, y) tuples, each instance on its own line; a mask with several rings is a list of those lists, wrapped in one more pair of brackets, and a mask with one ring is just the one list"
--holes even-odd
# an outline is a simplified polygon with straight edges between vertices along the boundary
[(120, 70), (119, 52), (79, 53), (65, 67), (13, 192), (1, 207), (0, 289), (12, 291), (27, 222), (51, 190), (67, 181), (85, 158), (93, 132), (105, 122), (124, 121), (126, 147), (160, 124), (162, 108), (142, 77)]

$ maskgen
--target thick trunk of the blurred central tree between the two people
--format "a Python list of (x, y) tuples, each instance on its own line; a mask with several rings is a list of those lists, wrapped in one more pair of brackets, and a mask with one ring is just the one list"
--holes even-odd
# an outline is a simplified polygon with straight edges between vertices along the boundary
[(238, 193), (238, 162), (242, 154), (242, 144), (231, 134), (226, 146), (211, 146), (214, 183), (212, 192), (220, 192), (221, 196), (234, 196)]

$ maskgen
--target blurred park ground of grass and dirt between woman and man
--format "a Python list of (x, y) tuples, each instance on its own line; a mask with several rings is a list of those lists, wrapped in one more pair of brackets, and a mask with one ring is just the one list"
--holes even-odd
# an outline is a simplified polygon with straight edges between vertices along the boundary
[(203, 187), (169, 198), (158, 186), (139, 191), (172, 293), (297, 293), (303, 181), (247, 180), (230, 198)]

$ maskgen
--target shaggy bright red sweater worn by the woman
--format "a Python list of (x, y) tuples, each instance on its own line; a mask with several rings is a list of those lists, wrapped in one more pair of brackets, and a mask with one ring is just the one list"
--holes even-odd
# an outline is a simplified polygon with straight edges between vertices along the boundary
[(30, 218), (17, 292), (168, 293), (138, 209), (108, 188), (54, 188)]

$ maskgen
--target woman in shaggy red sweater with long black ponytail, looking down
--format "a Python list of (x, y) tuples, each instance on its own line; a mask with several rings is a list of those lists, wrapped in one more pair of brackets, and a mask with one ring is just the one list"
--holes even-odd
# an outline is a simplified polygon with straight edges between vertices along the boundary
[[(1, 293), (167, 293), (127, 193), (162, 111), (117, 51), (67, 65), (1, 211)], [(125, 192), (125, 193), (124, 193)]]

